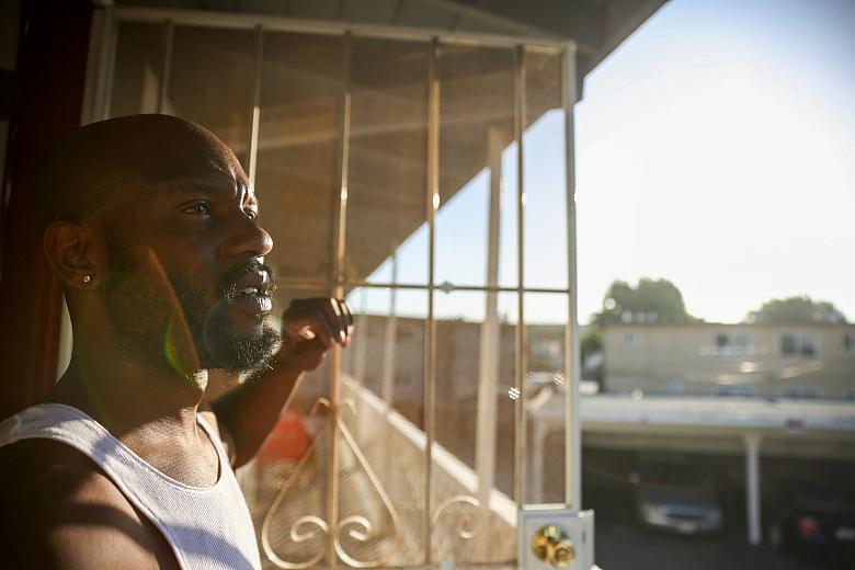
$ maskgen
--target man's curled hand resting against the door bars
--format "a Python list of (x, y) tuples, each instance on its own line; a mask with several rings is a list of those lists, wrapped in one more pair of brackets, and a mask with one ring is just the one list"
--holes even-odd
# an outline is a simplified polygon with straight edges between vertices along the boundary
[(282, 333), (280, 362), (299, 371), (314, 371), (333, 344), (347, 346), (353, 312), (342, 299), (294, 299), (282, 314)]

